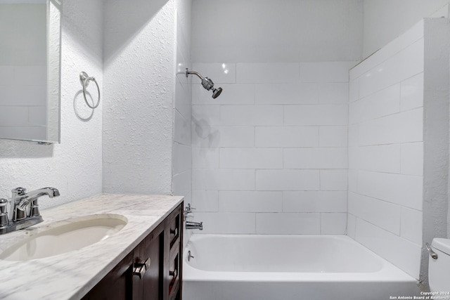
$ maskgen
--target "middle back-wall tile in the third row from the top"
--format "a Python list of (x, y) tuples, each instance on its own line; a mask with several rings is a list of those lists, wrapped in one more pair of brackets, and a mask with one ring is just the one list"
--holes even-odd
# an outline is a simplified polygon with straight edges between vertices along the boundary
[(283, 125), (282, 105), (222, 105), (222, 126), (276, 126)]

